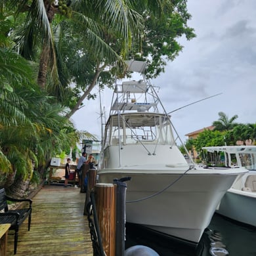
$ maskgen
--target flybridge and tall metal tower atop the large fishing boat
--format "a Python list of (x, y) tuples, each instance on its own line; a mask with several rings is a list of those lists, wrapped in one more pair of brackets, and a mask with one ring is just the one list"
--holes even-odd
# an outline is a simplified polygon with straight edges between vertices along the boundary
[[(146, 67), (144, 62), (132, 64), (136, 64), (136, 70), (139, 64)], [(105, 126), (104, 148), (118, 145), (119, 156), (121, 150), (135, 144), (142, 146), (149, 155), (156, 154), (160, 144), (167, 148), (175, 144), (169, 116), (154, 86), (144, 74), (141, 75), (143, 79), (139, 81), (123, 81), (115, 86), (110, 117)]]

